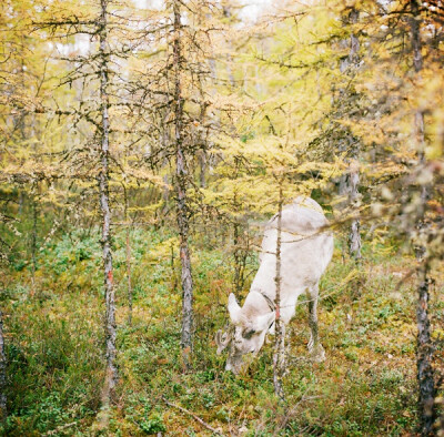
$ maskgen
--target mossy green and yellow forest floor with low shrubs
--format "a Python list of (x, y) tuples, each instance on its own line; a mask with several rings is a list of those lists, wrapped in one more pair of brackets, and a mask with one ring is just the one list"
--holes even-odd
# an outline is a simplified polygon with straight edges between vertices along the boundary
[[(389, 243), (364, 245), (359, 268), (339, 248), (321, 283), (326, 360), (312, 364), (306, 305), (291, 323), (286, 403), (273, 395), (272, 346), (246, 373), (225, 373), (214, 334), (224, 326), (233, 267), (216, 236), (195, 244), (192, 369), (180, 358), (176, 237), (133, 231), (132, 325), (128, 324), (124, 235), (115, 238), (120, 384), (110, 427), (95, 416), (103, 379), (103, 296), (98, 237), (74, 232), (41, 247), (32, 289), (20, 261), (2, 272), (11, 436), (411, 435), (416, 427), (415, 260)], [(254, 275), (255, 257), (243, 295)], [(432, 286), (433, 336), (444, 318), (443, 273)], [(300, 299), (303, 299), (301, 297)], [(436, 366), (442, 367), (437, 345)], [(180, 409), (179, 407), (182, 407)], [(184, 410), (184, 409), (185, 410)], [(1, 433), (0, 433), (1, 434)]]

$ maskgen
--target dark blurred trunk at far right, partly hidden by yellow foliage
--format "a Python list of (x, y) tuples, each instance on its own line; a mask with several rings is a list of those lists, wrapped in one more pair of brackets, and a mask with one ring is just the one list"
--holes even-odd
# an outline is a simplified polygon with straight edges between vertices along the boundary
[[(415, 73), (418, 75), (423, 69), (422, 42), (421, 42), (421, 12), (417, 0), (411, 0), (411, 38), (413, 50), (413, 67)], [(424, 113), (421, 110), (415, 112), (414, 119), (414, 135), (418, 150), (420, 164), (425, 164), (424, 155)], [(424, 215), (427, 206), (428, 187), (421, 187), (421, 206), (420, 216), (416, 221), (416, 228), (421, 233), (424, 227)], [(425, 247), (420, 247), (416, 256), (422, 258), (425, 254)], [(428, 436), (433, 433), (433, 425), (435, 421), (435, 380), (432, 367), (433, 360), (433, 346), (430, 332), (430, 317), (428, 317), (428, 301), (430, 301), (430, 278), (428, 267), (426, 262), (420, 270), (420, 283), (417, 288), (417, 306), (416, 306), (416, 323), (417, 323), (417, 350), (416, 350), (416, 366), (417, 366), (417, 383), (420, 388), (418, 396), (418, 414), (421, 421), (421, 435)]]

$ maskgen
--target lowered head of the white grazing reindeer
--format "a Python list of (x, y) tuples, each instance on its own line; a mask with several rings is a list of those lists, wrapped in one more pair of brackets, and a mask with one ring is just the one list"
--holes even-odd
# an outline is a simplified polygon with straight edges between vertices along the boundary
[(218, 354), (221, 354), (225, 348), (229, 350), (225, 370), (239, 374), (245, 364), (243, 357), (246, 354), (255, 356), (261, 349), (265, 334), (273, 323), (274, 312), (249, 317), (239, 306), (232, 293), (229, 297), (228, 307), (231, 323), (224, 333), (221, 331), (216, 333), (215, 342), (218, 344)]

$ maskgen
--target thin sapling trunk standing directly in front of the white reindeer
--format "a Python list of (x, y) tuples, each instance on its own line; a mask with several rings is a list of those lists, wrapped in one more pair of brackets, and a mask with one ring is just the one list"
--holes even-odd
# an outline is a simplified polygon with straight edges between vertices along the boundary
[(276, 314), (275, 314), (275, 339), (274, 339), (274, 355), (273, 355), (273, 385), (274, 393), (284, 400), (285, 394), (282, 384), (282, 377), (284, 374), (285, 365), (285, 349), (284, 349), (284, 329), (281, 319), (281, 243), (282, 243), (282, 181), (279, 187), (279, 212), (278, 212), (278, 237), (276, 237), (276, 275), (274, 277), (274, 283), (276, 284)]

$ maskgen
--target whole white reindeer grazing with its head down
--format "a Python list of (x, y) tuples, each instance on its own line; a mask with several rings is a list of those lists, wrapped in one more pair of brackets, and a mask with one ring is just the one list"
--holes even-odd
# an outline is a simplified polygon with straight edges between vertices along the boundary
[(276, 312), (283, 325), (295, 313), (297, 297), (307, 294), (311, 339), (309, 352), (316, 362), (325, 359), (317, 335), (319, 282), (333, 254), (333, 236), (325, 230), (327, 220), (321, 206), (310, 197), (299, 196), (282, 209), (281, 224), (281, 305), (276, 297), (276, 242), (278, 215), (265, 226), (260, 254), (260, 267), (253, 280), (243, 307), (234, 295), (229, 297), (230, 326), (216, 334), (218, 354), (228, 348), (226, 370), (238, 374), (246, 354), (256, 355), (266, 333), (274, 333)]

